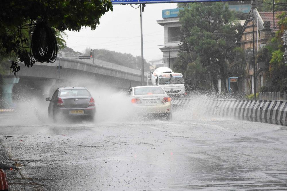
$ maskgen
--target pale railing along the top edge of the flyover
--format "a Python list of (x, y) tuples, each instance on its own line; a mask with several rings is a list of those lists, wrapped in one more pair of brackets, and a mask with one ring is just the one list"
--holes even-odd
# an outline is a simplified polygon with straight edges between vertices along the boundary
[[(57, 57), (58, 58), (67, 58), (67, 59), (79, 59), (79, 56), (82, 56), (80, 54), (74, 54), (71, 52), (63, 52), (63, 51), (58, 51)], [(137, 74), (140, 75), (141, 72), (140, 70), (136, 70), (133, 68), (129, 68), (129, 67), (125, 67), (125, 66), (121, 66), (118, 64), (114, 64), (114, 63), (109, 63), (106, 61), (102, 61), (102, 60), (98, 60), (98, 59), (94, 59), (94, 58), (90, 58), (90, 59), (82, 59), (82, 62), (86, 62), (86, 63), (90, 63), (90, 64), (94, 64), (94, 65), (98, 65), (98, 66), (104, 66), (104, 67), (108, 67), (110, 69), (115, 69), (115, 70), (119, 70), (119, 71), (123, 71), (123, 72), (128, 72), (128, 73), (133, 73), (133, 74)]]

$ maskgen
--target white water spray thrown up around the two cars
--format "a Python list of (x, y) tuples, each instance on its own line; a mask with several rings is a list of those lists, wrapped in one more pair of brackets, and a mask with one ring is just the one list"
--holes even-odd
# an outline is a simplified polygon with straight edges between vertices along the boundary
[[(49, 102), (45, 101), (45, 97), (52, 97), (57, 87), (65, 86), (85, 86), (85, 82), (77, 80), (77, 83), (55, 84), (50, 91), (50, 95), (43, 96), (34, 92), (25, 92), (25, 88), (18, 92), (25, 92), (18, 95), (15, 105), (16, 112), (8, 116), (0, 116), (1, 126), (23, 126), (23, 125), (55, 125), (52, 118), (48, 116)], [(112, 88), (105, 85), (94, 83), (86, 85), (92, 97), (95, 100), (96, 116), (95, 121), (86, 121), (77, 118), (77, 120), (67, 120), (62, 118), (57, 124), (82, 124), (82, 123), (108, 123), (108, 122), (135, 122), (139, 121), (135, 117), (134, 108), (126, 91)], [(202, 95), (200, 93), (191, 94), (188, 99), (190, 101), (183, 109), (173, 111), (172, 121), (183, 120), (210, 120), (212, 117), (207, 115), (206, 101), (216, 98), (215, 94)], [(1, 115), (1, 114), (0, 114)], [(146, 120), (155, 120), (155, 118), (147, 118)], [(163, 120), (156, 119), (158, 123), (164, 123)]]

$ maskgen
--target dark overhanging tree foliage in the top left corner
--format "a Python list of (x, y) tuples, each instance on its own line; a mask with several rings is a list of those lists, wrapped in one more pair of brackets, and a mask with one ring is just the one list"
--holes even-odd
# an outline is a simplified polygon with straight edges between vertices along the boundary
[(18, 61), (27, 67), (35, 61), (53, 61), (57, 45), (64, 43), (61, 32), (79, 31), (83, 26), (94, 30), (109, 10), (113, 7), (108, 0), (1, 1), (1, 58), (14, 57), (14, 72), (20, 70)]

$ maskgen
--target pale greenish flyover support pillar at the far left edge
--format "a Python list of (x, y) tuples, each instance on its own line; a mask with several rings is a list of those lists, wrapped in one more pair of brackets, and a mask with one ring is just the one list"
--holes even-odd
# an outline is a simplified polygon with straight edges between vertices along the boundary
[(0, 105), (1, 107), (3, 107), (4, 109), (7, 108), (11, 108), (12, 106), (12, 95), (13, 95), (13, 86), (15, 83), (19, 82), (19, 77), (14, 77), (14, 76), (7, 76), (4, 77), (4, 83), (3, 85), (1, 85), (1, 89), (2, 89), (2, 98), (1, 98), (1, 102)]

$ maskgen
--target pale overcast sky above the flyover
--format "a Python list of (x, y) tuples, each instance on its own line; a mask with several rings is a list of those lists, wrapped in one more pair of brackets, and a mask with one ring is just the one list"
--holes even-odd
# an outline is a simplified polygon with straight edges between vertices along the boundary
[[(133, 5), (138, 7), (139, 5)], [(100, 19), (96, 30), (83, 27), (80, 32), (65, 31), (67, 46), (83, 52), (86, 48), (107, 49), (133, 56), (141, 55), (140, 10), (131, 5), (113, 5)], [(161, 59), (158, 44), (164, 45), (164, 27), (156, 21), (162, 20), (163, 9), (174, 9), (176, 3), (146, 4), (142, 13), (144, 59)]]

